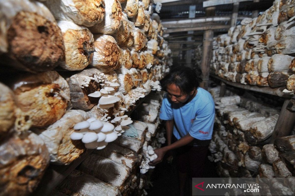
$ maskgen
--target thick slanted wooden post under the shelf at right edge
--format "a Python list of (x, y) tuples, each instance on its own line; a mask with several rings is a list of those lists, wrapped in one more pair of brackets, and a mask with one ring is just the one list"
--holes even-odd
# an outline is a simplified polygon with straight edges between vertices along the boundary
[(285, 99), (283, 107), (281, 109), (278, 121), (271, 135), (271, 143), (274, 142), (276, 138), (283, 136), (288, 136), (295, 125), (295, 112), (287, 109), (290, 99)]

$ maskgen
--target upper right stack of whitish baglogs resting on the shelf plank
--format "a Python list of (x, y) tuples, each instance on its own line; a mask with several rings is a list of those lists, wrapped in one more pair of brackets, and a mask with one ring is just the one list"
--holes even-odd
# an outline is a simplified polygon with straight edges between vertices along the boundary
[[(211, 73), (232, 82), (295, 89), (295, 1), (275, 0), (214, 41)], [(287, 92), (289, 92), (287, 91)]]

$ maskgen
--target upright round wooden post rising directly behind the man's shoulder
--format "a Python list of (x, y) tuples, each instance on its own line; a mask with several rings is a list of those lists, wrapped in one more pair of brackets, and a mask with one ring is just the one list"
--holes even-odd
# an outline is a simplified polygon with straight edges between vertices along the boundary
[[(214, 16), (215, 7), (205, 8), (205, 16)], [(202, 70), (202, 79), (203, 82), (200, 84), (200, 87), (205, 90), (208, 89), (209, 85), (209, 71), (210, 71), (210, 61), (212, 56), (212, 41), (213, 41), (214, 32), (212, 30), (207, 30), (204, 32), (203, 36), (203, 55), (201, 61), (201, 70)]]

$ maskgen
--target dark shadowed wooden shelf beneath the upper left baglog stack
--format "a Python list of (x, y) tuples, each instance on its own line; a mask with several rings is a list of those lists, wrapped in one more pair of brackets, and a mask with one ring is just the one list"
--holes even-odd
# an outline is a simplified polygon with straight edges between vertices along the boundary
[[(152, 92), (152, 91), (151, 91)], [(148, 96), (147, 94), (146, 96)], [(130, 116), (131, 113), (140, 105), (146, 98), (140, 98), (136, 101), (136, 105), (132, 110), (125, 112), (126, 115)], [(87, 149), (78, 159), (74, 160), (69, 165), (53, 165), (50, 164), (45, 171), (37, 189), (32, 193), (33, 196), (47, 196), (53, 191), (53, 189), (62, 182), (73, 170), (82, 163), (83, 160), (90, 155), (94, 149)]]

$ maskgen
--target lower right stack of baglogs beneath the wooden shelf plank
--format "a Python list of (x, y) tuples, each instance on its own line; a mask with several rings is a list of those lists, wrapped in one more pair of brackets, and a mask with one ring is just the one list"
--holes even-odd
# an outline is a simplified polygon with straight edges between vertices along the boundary
[[(277, 138), (270, 144), (279, 110), (239, 96), (215, 101), (217, 118), (209, 159), (218, 162), (221, 177), (295, 176), (295, 135)], [(274, 182), (270, 186), (280, 195), (294, 195), (294, 190)]]

